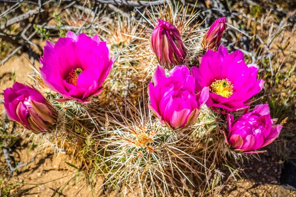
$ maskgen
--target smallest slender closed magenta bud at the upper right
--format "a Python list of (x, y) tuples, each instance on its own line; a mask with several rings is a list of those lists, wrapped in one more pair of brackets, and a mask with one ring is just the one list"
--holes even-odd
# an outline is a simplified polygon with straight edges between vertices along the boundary
[(204, 34), (201, 41), (202, 47), (205, 50), (212, 49), (216, 51), (220, 46), (221, 38), (226, 30), (226, 18), (217, 19), (210, 27), (207, 33)]

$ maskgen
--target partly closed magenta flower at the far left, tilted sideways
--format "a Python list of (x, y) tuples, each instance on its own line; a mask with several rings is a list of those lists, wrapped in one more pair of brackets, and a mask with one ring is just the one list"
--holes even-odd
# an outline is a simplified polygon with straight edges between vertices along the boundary
[(56, 127), (57, 111), (34, 88), (15, 82), (4, 90), (4, 108), (8, 118), (35, 133)]

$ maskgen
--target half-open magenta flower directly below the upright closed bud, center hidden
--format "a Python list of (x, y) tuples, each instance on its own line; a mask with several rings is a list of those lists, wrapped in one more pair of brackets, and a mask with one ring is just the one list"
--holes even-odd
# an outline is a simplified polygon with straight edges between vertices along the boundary
[(208, 88), (195, 94), (194, 78), (186, 66), (174, 67), (169, 77), (166, 77), (164, 68), (157, 66), (153, 83), (154, 86), (151, 82), (148, 85), (148, 107), (162, 124), (173, 129), (194, 122), (200, 106), (209, 98)]

